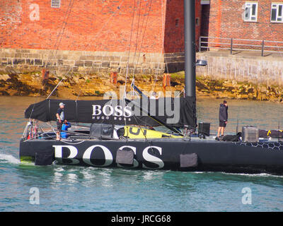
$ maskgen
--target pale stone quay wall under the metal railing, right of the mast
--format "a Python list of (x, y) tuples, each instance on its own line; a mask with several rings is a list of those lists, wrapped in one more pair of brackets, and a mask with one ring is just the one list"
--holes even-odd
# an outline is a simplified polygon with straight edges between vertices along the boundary
[(283, 86), (283, 57), (280, 56), (255, 57), (253, 54), (199, 52), (197, 59), (207, 60), (207, 66), (197, 66), (198, 76)]

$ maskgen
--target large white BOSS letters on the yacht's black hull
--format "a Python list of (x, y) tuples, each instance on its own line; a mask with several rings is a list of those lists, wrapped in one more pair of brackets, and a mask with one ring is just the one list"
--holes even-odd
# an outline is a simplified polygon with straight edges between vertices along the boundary
[[(79, 164), (79, 160), (76, 159), (76, 156), (78, 155), (78, 149), (76, 147), (72, 145), (53, 145), (53, 147), (55, 148), (55, 158), (57, 161), (62, 162), (63, 159), (68, 159), (68, 160), (71, 160), (70, 164)], [(69, 155), (67, 157), (62, 157), (63, 148), (69, 149)], [(95, 165), (91, 162), (91, 154), (96, 151), (96, 148), (101, 148), (101, 150), (103, 150), (104, 159), (105, 159), (105, 163), (103, 165)], [(119, 149), (123, 150), (125, 148), (129, 148), (133, 150), (134, 155), (137, 154), (137, 148), (134, 146), (124, 145), (120, 147)], [(148, 146), (144, 148), (144, 150), (142, 150), (142, 157), (144, 157), (144, 160), (146, 160), (146, 162), (154, 163), (157, 165), (157, 167), (149, 167), (149, 166), (146, 166), (144, 163), (141, 166), (146, 169), (161, 169), (164, 167), (164, 162), (159, 157), (156, 157), (149, 153), (149, 150), (153, 150), (153, 149), (158, 150), (158, 153), (162, 155), (161, 147)], [(85, 162), (88, 165), (95, 166), (95, 167), (107, 167), (112, 164), (113, 155), (111, 151), (103, 145), (92, 145), (91, 147), (87, 148), (83, 152), (83, 162)], [(124, 166), (117, 163), (117, 167), (124, 167)], [(133, 165), (130, 167), (131, 168), (139, 167), (139, 162), (136, 159), (134, 159)]]

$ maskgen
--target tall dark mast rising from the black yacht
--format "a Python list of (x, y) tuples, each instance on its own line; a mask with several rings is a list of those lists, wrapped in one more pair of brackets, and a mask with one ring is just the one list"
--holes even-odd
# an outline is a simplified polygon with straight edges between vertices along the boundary
[(195, 0), (184, 0), (185, 96), (195, 97)]

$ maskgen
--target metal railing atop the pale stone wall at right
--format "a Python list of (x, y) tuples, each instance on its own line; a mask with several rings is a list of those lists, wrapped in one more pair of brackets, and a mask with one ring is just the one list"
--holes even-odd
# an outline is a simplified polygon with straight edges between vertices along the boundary
[(269, 40), (247, 40), (228, 37), (204, 37), (200, 36), (200, 52), (203, 49), (227, 49), (233, 51), (252, 51), (261, 52), (265, 57), (265, 52), (283, 53), (283, 42)]

